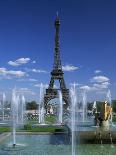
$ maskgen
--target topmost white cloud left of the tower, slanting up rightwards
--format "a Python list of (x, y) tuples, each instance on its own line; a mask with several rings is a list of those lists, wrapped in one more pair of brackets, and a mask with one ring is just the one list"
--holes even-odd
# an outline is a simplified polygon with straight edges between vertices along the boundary
[(8, 64), (16, 67), (23, 64), (27, 64), (29, 61), (30, 61), (30, 58), (19, 58), (15, 61), (9, 61)]

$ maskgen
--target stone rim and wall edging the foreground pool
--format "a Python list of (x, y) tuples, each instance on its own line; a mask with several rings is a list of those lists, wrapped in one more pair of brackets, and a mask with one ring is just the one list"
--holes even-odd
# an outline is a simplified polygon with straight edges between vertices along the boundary
[[(78, 131), (75, 133), (77, 137), (77, 141), (79, 143), (86, 143), (86, 144), (100, 144), (102, 139), (103, 144), (111, 143), (110, 141), (110, 134), (112, 135), (112, 142), (116, 143), (116, 131)], [(17, 132), (17, 135), (57, 135), (57, 134), (66, 134), (70, 139), (70, 133), (67, 132)], [(100, 135), (101, 134), (101, 138)], [(0, 134), (0, 143), (5, 140), (7, 137), (12, 135), (12, 132), (2, 133)]]

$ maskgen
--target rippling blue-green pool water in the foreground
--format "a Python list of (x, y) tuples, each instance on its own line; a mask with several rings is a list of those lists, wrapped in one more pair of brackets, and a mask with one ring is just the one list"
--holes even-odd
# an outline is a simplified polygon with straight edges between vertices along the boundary
[[(19, 149), (5, 149), (12, 145), (12, 137), (0, 143), (0, 155), (71, 155), (71, 145), (65, 135), (17, 135)], [(115, 155), (114, 144), (77, 144), (76, 155)]]

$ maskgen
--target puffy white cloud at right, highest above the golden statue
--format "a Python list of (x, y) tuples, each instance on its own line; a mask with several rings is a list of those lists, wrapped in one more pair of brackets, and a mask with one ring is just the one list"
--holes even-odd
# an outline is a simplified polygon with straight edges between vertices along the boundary
[(110, 79), (106, 76), (95, 76), (93, 77), (90, 81), (91, 82), (97, 82), (97, 83), (102, 83), (102, 82), (107, 82)]

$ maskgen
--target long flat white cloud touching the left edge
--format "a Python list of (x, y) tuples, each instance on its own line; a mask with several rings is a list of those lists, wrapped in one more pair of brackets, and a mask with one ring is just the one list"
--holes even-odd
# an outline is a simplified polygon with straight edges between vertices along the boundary
[(26, 76), (26, 73), (23, 71), (14, 71), (14, 70), (7, 70), (6, 68), (0, 68), (0, 75), (3, 76), (15, 76), (15, 77), (23, 77)]

